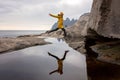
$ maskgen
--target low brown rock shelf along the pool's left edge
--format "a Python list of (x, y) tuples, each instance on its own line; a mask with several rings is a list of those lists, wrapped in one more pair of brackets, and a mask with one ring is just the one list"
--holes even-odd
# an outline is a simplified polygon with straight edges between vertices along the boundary
[(16, 38), (0, 38), (0, 54), (19, 50), (36, 45), (49, 44), (44, 41), (44, 38), (38, 38), (37, 36), (19, 36)]

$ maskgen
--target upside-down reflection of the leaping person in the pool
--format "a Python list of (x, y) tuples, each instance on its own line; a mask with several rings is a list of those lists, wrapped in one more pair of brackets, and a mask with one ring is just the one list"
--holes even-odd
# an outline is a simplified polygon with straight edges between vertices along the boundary
[(64, 56), (63, 56), (62, 59), (59, 59), (57, 56), (55, 56), (55, 55), (53, 55), (53, 54), (51, 54), (51, 53), (48, 52), (49, 56), (54, 57), (55, 59), (57, 59), (57, 62), (58, 62), (58, 69), (50, 72), (49, 74), (52, 74), (52, 73), (55, 73), (55, 72), (58, 72), (58, 73), (60, 73), (60, 74), (63, 74), (63, 61), (65, 60), (66, 54), (67, 54), (68, 52), (69, 52), (68, 50), (65, 51)]

